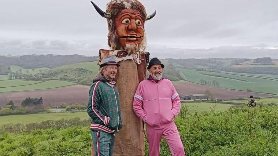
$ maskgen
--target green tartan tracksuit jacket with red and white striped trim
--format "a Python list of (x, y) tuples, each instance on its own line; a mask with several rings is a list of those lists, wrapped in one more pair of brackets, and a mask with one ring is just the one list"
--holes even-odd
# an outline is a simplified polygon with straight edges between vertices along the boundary
[(91, 117), (92, 131), (117, 133), (122, 128), (120, 97), (115, 82), (101, 79), (93, 83), (87, 112)]

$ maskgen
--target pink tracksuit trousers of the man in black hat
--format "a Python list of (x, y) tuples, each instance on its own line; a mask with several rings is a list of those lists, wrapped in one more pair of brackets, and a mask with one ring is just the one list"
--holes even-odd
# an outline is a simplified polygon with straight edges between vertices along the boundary
[(159, 156), (161, 137), (167, 141), (173, 156), (185, 156), (183, 144), (177, 126), (173, 124), (163, 129), (153, 129), (146, 124), (146, 132), (149, 143), (149, 156)]

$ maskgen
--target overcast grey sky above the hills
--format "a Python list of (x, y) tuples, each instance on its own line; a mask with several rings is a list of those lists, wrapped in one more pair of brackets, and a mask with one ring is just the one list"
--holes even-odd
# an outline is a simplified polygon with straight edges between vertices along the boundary
[[(94, 0), (103, 10), (109, 0)], [(147, 51), (160, 58), (278, 58), (277, 0), (141, 0)], [(106, 19), (89, 0), (0, 0), (0, 55), (98, 55)]]

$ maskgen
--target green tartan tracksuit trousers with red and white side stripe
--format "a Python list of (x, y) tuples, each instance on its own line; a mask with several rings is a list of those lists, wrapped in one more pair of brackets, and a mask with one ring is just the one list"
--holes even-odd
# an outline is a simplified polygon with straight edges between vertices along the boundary
[(92, 131), (95, 156), (112, 156), (115, 136), (113, 133)]

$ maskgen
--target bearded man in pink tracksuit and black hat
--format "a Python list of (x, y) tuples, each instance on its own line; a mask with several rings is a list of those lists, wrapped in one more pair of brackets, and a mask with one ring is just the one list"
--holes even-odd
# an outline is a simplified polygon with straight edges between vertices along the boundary
[(167, 141), (173, 156), (185, 156), (174, 118), (180, 113), (180, 97), (172, 82), (162, 78), (164, 65), (150, 60), (150, 76), (140, 82), (134, 95), (135, 114), (146, 123), (149, 155), (159, 156), (161, 137)]

